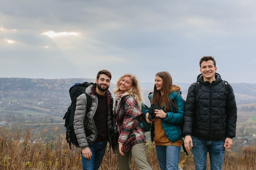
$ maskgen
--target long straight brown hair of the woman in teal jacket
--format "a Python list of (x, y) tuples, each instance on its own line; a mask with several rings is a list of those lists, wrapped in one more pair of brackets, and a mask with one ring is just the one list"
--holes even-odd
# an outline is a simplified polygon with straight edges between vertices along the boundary
[(154, 86), (152, 104), (158, 103), (160, 107), (164, 104), (164, 111), (171, 111), (170, 106), (170, 90), (173, 87), (173, 79), (167, 71), (162, 71), (157, 73), (155, 76), (159, 76), (163, 79), (162, 82), (162, 91), (164, 92), (161, 95), (160, 91), (157, 90), (156, 86)]

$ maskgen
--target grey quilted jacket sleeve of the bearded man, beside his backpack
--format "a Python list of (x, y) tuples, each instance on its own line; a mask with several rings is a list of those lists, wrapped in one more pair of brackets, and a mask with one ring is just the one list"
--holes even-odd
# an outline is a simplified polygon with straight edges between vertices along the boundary
[(85, 134), (85, 116), (86, 116), (86, 95), (82, 94), (76, 98), (76, 111), (74, 115), (74, 132), (80, 148), (88, 147), (88, 141)]

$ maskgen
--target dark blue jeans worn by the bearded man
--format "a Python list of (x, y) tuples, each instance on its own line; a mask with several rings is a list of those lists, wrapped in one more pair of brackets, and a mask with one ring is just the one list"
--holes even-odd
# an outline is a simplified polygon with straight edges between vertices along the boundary
[(94, 142), (93, 144), (89, 144), (92, 157), (90, 160), (88, 160), (85, 159), (81, 154), (83, 170), (98, 170), (105, 155), (106, 147), (107, 141)]

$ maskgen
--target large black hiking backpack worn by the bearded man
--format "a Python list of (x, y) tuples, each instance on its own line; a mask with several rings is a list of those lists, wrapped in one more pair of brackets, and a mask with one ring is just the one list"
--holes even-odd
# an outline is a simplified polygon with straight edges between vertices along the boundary
[[(92, 84), (93, 83), (83, 82), (83, 83), (76, 83), (70, 87), (69, 93), (71, 98), (71, 104), (67, 108), (67, 112), (63, 117), (63, 119), (65, 119), (66, 140), (67, 140), (67, 143), (69, 143), (70, 145), (70, 149), (71, 149), (71, 144), (73, 144), (76, 147), (79, 147), (79, 144), (76, 139), (76, 134), (74, 132), (74, 125), (73, 125), (74, 114), (76, 111), (76, 98), (79, 97), (81, 94), (85, 93), (85, 89)], [(87, 112), (88, 112), (92, 105), (92, 99), (87, 93), (85, 94), (87, 97)]]

